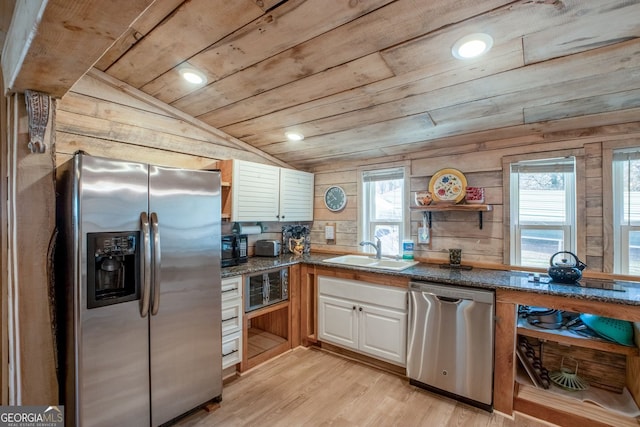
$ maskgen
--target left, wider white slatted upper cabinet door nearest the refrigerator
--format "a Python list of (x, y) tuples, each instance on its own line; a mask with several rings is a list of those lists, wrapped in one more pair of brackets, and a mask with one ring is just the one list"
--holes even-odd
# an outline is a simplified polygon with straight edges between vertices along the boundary
[(233, 161), (231, 221), (278, 221), (280, 168)]

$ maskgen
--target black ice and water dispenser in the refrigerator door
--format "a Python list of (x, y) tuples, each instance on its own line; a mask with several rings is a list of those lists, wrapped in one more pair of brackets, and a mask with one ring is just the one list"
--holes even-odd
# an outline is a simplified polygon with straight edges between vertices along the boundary
[(87, 234), (87, 308), (140, 299), (138, 234)]

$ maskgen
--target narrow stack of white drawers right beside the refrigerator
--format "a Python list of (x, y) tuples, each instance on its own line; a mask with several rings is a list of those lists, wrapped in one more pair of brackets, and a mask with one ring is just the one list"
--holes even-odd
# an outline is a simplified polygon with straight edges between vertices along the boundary
[(222, 279), (222, 369), (242, 361), (242, 276)]

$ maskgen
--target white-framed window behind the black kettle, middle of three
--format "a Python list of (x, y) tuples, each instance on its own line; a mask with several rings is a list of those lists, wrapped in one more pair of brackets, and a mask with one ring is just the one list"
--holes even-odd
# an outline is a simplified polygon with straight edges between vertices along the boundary
[(575, 158), (511, 164), (510, 262), (548, 267), (553, 254), (575, 252)]

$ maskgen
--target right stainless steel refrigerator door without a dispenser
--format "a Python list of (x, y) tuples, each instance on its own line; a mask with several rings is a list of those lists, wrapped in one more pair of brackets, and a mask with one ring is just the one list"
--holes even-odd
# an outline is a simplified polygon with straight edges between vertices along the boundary
[(152, 166), (149, 213), (160, 248), (150, 310), (155, 426), (222, 393), (219, 173)]

